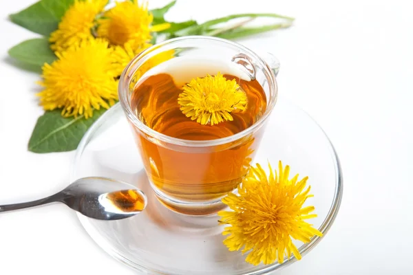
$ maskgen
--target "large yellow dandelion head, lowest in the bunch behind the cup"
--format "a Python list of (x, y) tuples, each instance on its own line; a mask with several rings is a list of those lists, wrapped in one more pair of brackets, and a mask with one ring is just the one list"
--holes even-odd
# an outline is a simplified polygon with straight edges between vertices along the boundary
[(45, 89), (38, 94), (45, 110), (62, 109), (69, 117), (92, 117), (93, 109), (114, 104), (118, 99), (118, 81), (113, 50), (101, 39), (83, 41), (65, 52), (58, 60), (43, 66)]

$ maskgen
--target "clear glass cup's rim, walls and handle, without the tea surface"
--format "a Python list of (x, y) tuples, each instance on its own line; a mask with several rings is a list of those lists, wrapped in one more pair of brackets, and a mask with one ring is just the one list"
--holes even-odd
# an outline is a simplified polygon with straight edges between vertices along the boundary
[[(158, 62), (162, 59), (158, 57), (171, 52), (173, 58)], [(265, 54), (264, 58), (267, 62), (263, 56), (232, 41), (185, 36), (149, 47), (125, 68), (119, 80), (120, 104), (134, 133), (151, 187), (167, 208), (182, 214), (213, 214), (224, 208), (222, 197), (236, 190), (246, 175), (267, 118), (277, 102), (275, 76), (279, 63), (271, 54)], [(262, 116), (243, 131), (214, 140), (183, 140), (149, 128), (132, 106), (132, 99), (137, 100), (133, 98), (136, 87), (148, 74), (159, 74), (175, 65), (179, 69), (180, 64), (189, 60), (219, 65), (222, 71), (231, 70), (240, 78), (257, 80), (266, 94)], [(194, 76), (204, 76), (204, 69), (193, 67)]]

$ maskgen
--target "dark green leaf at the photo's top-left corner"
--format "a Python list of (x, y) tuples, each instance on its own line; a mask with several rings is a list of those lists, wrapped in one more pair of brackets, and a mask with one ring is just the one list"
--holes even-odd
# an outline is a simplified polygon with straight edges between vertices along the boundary
[(10, 20), (27, 30), (48, 36), (57, 29), (59, 21), (74, 0), (41, 0), (15, 14)]

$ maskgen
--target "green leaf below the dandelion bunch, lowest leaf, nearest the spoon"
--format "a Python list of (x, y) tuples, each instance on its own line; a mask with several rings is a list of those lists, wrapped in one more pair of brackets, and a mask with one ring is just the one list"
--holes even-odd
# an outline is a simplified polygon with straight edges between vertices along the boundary
[(34, 153), (53, 153), (75, 150), (87, 129), (106, 109), (94, 110), (93, 117), (63, 118), (60, 110), (46, 111), (34, 126), (28, 149)]

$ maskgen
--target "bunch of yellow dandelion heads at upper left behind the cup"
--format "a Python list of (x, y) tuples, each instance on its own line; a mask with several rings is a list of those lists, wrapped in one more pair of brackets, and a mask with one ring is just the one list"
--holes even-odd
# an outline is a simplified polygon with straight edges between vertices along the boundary
[[(151, 32), (169, 28), (169, 23), (151, 25), (146, 2), (118, 1), (105, 10), (107, 0), (75, 0), (50, 34), (50, 47), (57, 60), (43, 66), (38, 94), (45, 110), (61, 109), (65, 117), (84, 115), (109, 108), (116, 100), (117, 83), (125, 66), (151, 46)], [(173, 57), (166, 52), (140, 69)]]

